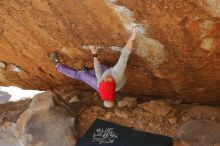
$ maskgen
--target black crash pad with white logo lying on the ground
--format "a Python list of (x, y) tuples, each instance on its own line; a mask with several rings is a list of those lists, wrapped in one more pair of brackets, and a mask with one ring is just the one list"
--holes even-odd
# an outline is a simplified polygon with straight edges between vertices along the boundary
[(172, 146), (172, 138), (97, 119), (77, 146)]

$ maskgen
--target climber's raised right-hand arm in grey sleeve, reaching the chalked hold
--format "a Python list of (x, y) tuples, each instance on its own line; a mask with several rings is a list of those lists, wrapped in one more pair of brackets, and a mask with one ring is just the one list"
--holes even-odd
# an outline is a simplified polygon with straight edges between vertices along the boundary
[(121, 55), (120, 58), (117, 62), (117, 64), (113, 67), (112, 71), (118, 76), (121, 77), (124, 75), (126, 66), (127, 66), (127, 61), (129, 58), (130, 53), (132, 52), (132, 47), (133, 47), (133, 41), (135, 39), (136, 36), (136, 32), (137, 32), (137, 28), (133, 29), (133, 32), (130, 36), (130, 38), (128, 39), (126, 45), (124, 46), (124, 48), (121, 50)]

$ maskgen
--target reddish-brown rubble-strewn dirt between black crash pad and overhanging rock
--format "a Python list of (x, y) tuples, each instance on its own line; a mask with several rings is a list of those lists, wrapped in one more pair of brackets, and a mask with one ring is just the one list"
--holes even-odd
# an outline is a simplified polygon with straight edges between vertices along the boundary
[[(83, 106), (87, 105), (77, 110), (76, 126), (79, 138), (82, 138), (94, 120), (98, 118), (135, 130), (170, 136), (174, 140), (174, 146), (183, 146), (177, 140), (177, 133), (187, 121), (207, 119), (220, 122), (220, 107), (217, 106), (205, 106), (197, 103), (184, 104), (181, 100), (159, 99), (138, 101), (137, 104), (134, 103), (130, 107), (115, 105), (113, 108), (107, 109), (94, 96), (90, 94), (89, 97), (87, 94), (87, 100), (84, 98), (84, 101), (71, 104), (72, 108), (76, 108), (82, 103), (84, 103)], [(126, 98), (135, 99), (133, 97), (125, 97), (124, 99)]]

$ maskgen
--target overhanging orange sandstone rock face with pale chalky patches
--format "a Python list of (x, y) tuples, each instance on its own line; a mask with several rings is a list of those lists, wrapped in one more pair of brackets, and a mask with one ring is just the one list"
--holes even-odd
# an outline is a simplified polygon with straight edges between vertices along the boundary
[[(79, 69), (93, 66), (83, 46), (101, 46), (113, 66), (132, 26), (140, 33), (126, 70), (126, 94), (220, 102), (219, 2), (212, 0), (0, 1), (0, 84), (90, 89), (59, 74), (49, 53)], [(14, 66), (13, 66), (14, 65)]]

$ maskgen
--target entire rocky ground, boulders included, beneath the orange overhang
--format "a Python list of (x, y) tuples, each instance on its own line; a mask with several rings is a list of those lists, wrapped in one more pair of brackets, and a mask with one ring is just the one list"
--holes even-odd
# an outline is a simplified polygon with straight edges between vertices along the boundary
[(90, 91), (69, 92), (68, 96), (45, 92), (32, 101), (0, 105), (0, 144), (73, 146), (97, 118), (170, 136), (174, 146), (220, 144), (220, 107), (124, 97), (107, 109)]

